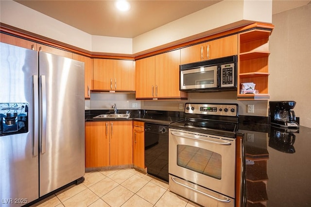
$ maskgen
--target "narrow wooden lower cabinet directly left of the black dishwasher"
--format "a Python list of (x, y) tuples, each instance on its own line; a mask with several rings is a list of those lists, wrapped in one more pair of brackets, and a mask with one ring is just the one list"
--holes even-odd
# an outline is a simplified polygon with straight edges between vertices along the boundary
[(133, 164), (145, 169), (145, 129), (144, 122), (133, 121)]

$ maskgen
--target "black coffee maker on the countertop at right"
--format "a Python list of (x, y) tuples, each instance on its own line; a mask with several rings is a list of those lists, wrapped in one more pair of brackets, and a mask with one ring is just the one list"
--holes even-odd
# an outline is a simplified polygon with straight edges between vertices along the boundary
[(269, 102), (271, 124), (280, 127), (298, 128), (294, 110), (294, 101), (274, 101)]

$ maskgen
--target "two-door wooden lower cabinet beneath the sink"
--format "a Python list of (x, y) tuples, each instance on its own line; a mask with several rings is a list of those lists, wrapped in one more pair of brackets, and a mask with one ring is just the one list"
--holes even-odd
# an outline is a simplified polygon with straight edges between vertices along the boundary
[(86, 122), (86, 168), (133, 164), (132, 121)]

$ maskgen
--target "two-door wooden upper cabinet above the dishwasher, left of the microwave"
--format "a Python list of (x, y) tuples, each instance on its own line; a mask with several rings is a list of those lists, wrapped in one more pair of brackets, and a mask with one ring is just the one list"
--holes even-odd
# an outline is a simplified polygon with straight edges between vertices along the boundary
[(137, 99), (181, 99), (179, 90), (180, 50), (136, 61)]

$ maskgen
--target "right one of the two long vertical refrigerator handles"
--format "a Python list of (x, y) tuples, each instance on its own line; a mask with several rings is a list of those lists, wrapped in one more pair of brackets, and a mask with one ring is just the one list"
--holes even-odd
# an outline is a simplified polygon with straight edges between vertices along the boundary
[(41, 154), (46, 150), (46, 138), (47, 138), (47, 91), (45, 75), (41, 75)]

